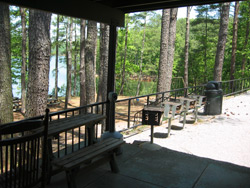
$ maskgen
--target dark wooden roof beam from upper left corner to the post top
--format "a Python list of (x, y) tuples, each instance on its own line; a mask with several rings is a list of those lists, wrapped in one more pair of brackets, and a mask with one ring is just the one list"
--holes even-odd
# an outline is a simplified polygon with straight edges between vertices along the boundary
[(10, 5), (33, 8), (70, 17), (124, 26), (124, 13), (89, 0), (0, 0)]

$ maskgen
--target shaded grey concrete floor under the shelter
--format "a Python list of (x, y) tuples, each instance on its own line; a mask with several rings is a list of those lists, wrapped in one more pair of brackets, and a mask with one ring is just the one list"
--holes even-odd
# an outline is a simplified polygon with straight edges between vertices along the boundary
[[(152, 148), (157, 147), (157, 150)], [(109, 164), (80, 171), (78, 188), (235, 188), (250, 187), (250, 168), (173, 151), (156, 144), (140, 147), (124, 144), (117, 156), (120, 172), (111, 173)], [(65, 173), (53, 176), (50, 187), (66, 188)]]

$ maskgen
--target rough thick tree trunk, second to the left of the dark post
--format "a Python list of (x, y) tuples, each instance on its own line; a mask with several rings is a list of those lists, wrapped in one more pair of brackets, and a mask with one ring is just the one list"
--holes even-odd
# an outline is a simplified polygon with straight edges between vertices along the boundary
[(88, 21), (85, 47), (86, 100), (87, 104), (95, 102), (95, 50), (97, 39), (97, 23)]

